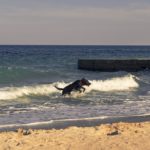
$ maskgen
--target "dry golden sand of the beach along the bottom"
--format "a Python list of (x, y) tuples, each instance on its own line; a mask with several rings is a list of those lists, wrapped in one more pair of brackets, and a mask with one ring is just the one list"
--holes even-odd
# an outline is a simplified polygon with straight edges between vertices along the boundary
[(28, 132), (1, 132), (0, 150), (150, 150), (150, 122)]

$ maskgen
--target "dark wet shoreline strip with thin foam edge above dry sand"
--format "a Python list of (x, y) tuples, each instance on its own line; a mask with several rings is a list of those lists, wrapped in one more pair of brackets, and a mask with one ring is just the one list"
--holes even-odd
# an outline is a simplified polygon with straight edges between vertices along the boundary
[(71, 126), (76, 127), (93, 127), (101, 124), (112, 124), (118, 122), (146, 122), (150, 121), (150, 115), (134, 115), (134, 116), (119, 116), (119, 117), (93, 117), (93, 118), (80, 118), (80, 119), (61, 119), (50, 120), (45, 122), (35, 122), (29, 124), (12, 124), (12, 125), (0, 125), (0, 132), (4, 131), (17, 131), (19, 128), (23, 129), (66, 129)]

